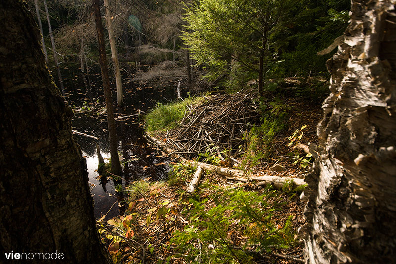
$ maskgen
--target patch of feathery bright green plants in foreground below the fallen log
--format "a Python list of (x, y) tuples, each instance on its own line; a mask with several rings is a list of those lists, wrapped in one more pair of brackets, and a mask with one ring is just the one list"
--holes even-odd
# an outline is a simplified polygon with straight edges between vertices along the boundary
[(248, 247), (270, 252), (295, 246), (293, 216), (281, 219), (275, 213), (284, 203), (279, 195), (271, 188), (257, 193), (206, 183), (188, 200), (190, 210), (182, 214), (190, 224), (173, 233), (171, 245), (193, 263), (254, 263)]

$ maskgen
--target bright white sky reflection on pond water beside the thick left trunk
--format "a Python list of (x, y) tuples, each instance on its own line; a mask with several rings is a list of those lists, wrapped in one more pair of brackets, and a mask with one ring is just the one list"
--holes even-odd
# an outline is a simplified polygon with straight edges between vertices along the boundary
[[(99, 176), (96, 170), (98, 169), (98, 156), (95, 154), (93, 156), (88, 156), (87, 153), (83, 152), (83, 156), (87, 161), (87, 169), (88, 169), (88, 177), (89, 177), (89, 185), (91, 189), (91, 194), (94, 199), (94, 215), (95, 218), (100, 218), (102, 215), (105, 215), (107, 212), (106, 219), (110, 219), (114, 216), (119, 215), (118, 211), (118, 201), (115, 197), (114, 183), (112, 180), (106, 184), (107, 193), (103, 190), (102, 185), (100, 185), (99, 180), (96, 177)], [(104, 161), (110, 158), (109, 153), (102, 153)], [(111, 210), (110, 210), (111, 208)]]

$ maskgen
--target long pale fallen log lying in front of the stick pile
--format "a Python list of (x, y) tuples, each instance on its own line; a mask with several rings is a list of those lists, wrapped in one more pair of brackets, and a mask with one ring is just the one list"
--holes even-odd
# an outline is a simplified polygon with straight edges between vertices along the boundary
[[(151, 137), (147, 133), (145, 134), (145, 137), (149, 141), (157, 144), (167, 154), (172, 154), (175, 152), (171, 148), (167, 147), (164, 143), (162, 143), (161, 141), (159, 141), (158, 139), (156, 139), (154, 137)], [(219, 175), (225, 176), (227, 179), (242, 181), (242, 182), (252, 182), (256, 186), (272, 184), (275, 188), (279, 189), (279, 188), (282, 188), (285, 183), (288, 183), (291, 181), (293, 181), (295, 186), (306, 185), (306, 182), (300, 178), (278, 177), (278, 176), (269, 176), (269, 175), (264, 175), (264, 176), (260, 176), (260, 177), (248, 177), (245, 172), (238, 170), (238, 169), (219, 167), (219, 166), (210, 165), (210, 164), (202, 163), (202, 162), (198, 162), (198, 161), (191, 161), (191, 160), (187, 160), (183, 157), (178, 157), (177, 159), (179, 159), (179, 161), (181, 163), (183, 163), (184, 165), (192, 165), (192, 166), (196, 166), (196, 167), (202, 167), (202, 169), (204, 169), (204, 170), (214, 171)]]

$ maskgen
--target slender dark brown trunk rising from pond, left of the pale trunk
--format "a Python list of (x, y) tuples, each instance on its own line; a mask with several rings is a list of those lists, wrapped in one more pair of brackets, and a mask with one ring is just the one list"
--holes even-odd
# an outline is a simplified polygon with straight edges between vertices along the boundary
[(104, 43), (103, 24), (102, 24), (102, 17), (100, 14), (99, 0), (92, 0), (92, 4), (95, 14), (96, 30), (98, 34), (98, 46), (99, 46), (99, 56), (100, 56), (99, 58), (100, 58), (100, 68), (103, 79), (104, 99), (106, 101), (106, 108), (107, 108), (107, 125), (108, 125), (108, 136), (110, 141), (111, 173), (115, 175), (121, 175), (122, 169), (120, 164), (120, 158), (118, 157), (117, 131), (114, 121), (114, 108), (113, 108), (111, 89), (110, 89), (110, 78), (108, 75), (106, 47)]

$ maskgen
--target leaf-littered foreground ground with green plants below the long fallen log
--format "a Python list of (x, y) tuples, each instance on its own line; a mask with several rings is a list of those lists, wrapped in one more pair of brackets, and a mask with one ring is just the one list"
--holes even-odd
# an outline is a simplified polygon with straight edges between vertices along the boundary
[(170, 182), (127, 186), (125, 215), (98, 221), (114, 263), (257, 263), (300, 250), (293, 183), (251, 190), (209, 174), (191, 196), (183, 186), (194, 170), (175, 165)]

